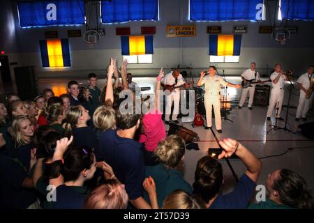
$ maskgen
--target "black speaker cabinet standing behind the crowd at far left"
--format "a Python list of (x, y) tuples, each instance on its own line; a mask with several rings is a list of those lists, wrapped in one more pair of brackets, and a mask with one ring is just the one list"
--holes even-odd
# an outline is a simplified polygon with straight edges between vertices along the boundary
[(33, 66), (14, 68), (17, 94), (21, 100), (33, 100), (38, 95), (38, 84)]

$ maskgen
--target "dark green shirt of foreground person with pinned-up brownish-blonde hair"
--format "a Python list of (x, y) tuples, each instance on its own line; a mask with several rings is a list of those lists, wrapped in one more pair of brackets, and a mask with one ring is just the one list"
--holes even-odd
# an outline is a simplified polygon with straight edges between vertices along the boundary
[[(174, 190), (184, 190), (192, 194), (192, 187), (184, 180), (184, 174), (176, 169), (167, 169), (163, 164), (145, 167), (145, 177), (151, 176), (156, 183), (158, 205), (161, 208), (168, 194)], [(149, 202), (149, 196), (144, 192), (144, 199)]]

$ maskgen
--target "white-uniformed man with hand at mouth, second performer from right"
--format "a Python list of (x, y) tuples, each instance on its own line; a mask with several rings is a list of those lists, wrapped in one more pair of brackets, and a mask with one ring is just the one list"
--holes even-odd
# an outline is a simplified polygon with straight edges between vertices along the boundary
[(276, 118), (283, 120), (281, 118), (281, 109), (283, 107), (283, 96), (285, 95), (285, 80), (287, 80), (287, 75), (283, 73), (283, 69), (280, 63), (275, 64), (275, 71), (271, 74), (271, 97), (269, 100), (269, 107), (267, 110), (267, 121), (271, 120), (271, 116), (274, 109), (278, 106), (278, 114)]

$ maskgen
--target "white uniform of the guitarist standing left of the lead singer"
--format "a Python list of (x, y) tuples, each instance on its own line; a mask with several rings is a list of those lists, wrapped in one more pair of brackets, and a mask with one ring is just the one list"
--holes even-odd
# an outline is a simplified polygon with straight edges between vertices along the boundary
[[(172, 71), (173, 72), (173, 71)], [(168, 73), (163, 77), (161, 80), (161, 83), (165, 85), (172, 85), (176, 83), (176, 79), (172, 76), (172, 72)], [(181, 74), (179, 74), (179, 77), (177, 79), (177, 84), (174, 86), (180, 86), (186, 83), (184, 80), (184, 77), (182, 77)], [(180, 88), (174, 89), (170, 95), (165, 96), (165, 121), (170, 121), (170, 114), (171, 114), (171, 107), (172, 103), (174, 103), (173, 112), (172, 112), (172, 120), (176, 121), (177, 116), (179, 114), (179, 102), (180, 102)]]

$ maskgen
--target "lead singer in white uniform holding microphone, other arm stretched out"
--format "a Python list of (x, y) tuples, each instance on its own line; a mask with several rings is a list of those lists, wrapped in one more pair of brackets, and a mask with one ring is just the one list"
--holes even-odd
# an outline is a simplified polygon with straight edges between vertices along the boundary
[[(206, 109), (207, 126), (205, 129), (211, 128), (211, 112), (214, 107), (216, 130), (221, 133), (221, 114), (220, 114), (220, 89), (221, 86), (230, 86), (241, 89), (240, 84), (231, 84), (226, 82), (223, 77), (217, 75), (217, 70), (214, 66), (209, 67), (209, 75), (205, 76), (206, 72), (202, 71), (197, 86), (205, 84), (204, 105)], [(205, 77), (204, 77), (205, 76)]]

